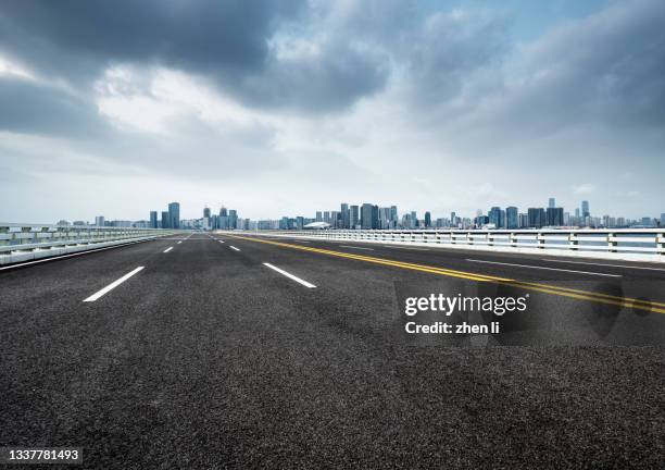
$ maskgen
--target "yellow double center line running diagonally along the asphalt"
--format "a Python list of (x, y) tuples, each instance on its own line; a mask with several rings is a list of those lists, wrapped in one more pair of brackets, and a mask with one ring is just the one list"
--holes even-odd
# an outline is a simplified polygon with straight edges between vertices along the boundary
[(362, 255), (347, 253), (343, 251), (327, 250), (323, 248), (305, 247), (302, 245), (273, 242), (273, 240), (266, 240), (266, 239), (255, 238), (255, 237), (243, 237), (243, 236), (228, 235), (228, 234), (227, 236), (231, 236), (234, 238), (244, 239), (249, 242), (254, 242), (254, 243), (262, 243), (266, 245), (279, 246), (284, 248), (298, 249), (301, 251), (311, 251), (311, 252), (316, 252), (316, 253), (322, 253), (322, 255), (335, 256), (339, 258), (349, 258), (349, 259), (354, 259), (359, 261), (371, 262), (374, 264), (390, 265), (390, 267), (402, 268), (402, 269), (407, 269), (412, 271), (427, 272), (427, 273), (432, 273), (432, 274), (446, 275), (450, 277), (460, 277), (460, 279), (465, 279), (469, 281), (510, 285), (514, 287), (524, 288), (525, 290), (534, 290), (534, 292), (541, 292), (545, 294), (553, 294), (553, 295), (557, 295), (562, 297), (578, 299), (578, 300), (589, 300), (589, 301), (597, 302), (597, 304), (606, 304), (606, 305), (632, 308), (637, 310), (650, 311), (650, 312), (655, 312), (655, 313), (665, 313), (665, 304), (650, 301), (650, 300), (640, 300), (640, 299), (635, 299), (635, 298), (629, 298), (629, 297), (614, 296), (610, 294), (601, 294), (601, 293), (593, 293), (593, 292), (588, 292), (588, 290), (573, 289), (568, 287), (559, 287), (559, 286), (549, 285), (549, 284), (529, 283), (529, 282), (523, 282), (523, 281), (517, 281), (517, 280), (512, 280), (512, 279), (506, 279), (506, 277), (497, 277), (497, 276), (491, 276), (491, 275), (486, 275), (486, 274), (477, 274), (477, 273), (470, 273), (470, 272), (465, 272), (465, 271), (456, 271), (456, 270), (450, 270), (450, 269), (443, 269), (443, 268), (437, 268), (437, 267), (429, 267), (425, 264), (414, 264), (414, 263), (407, 263), (403, 261), (389, 260), (385, 258), (375, 258), (375, 257), (367, 257), (367, 256), (362, 256)]

